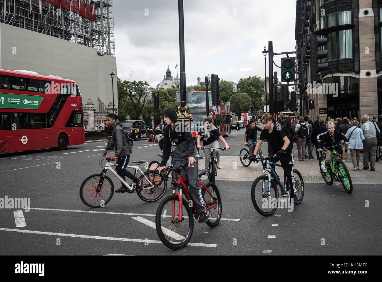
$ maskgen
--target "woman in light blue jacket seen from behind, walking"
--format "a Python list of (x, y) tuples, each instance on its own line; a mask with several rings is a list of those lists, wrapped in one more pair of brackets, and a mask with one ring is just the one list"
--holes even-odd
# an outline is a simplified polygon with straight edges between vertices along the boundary
[(362, 129), (358, 127), (359, 122), (354, 120), (345, 136), (349, 140), (351, 161), (353, 161), (354, 171), (359, 170), (359, 151), (363, 150), (362, 141), (365, 140)]

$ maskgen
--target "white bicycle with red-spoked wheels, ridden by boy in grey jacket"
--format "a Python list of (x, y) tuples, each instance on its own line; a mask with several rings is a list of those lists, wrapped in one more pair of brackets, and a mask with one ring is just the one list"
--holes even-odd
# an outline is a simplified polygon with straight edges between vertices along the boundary
[[(145, 202), (155, 202), (163, 197), (167, 189), (167, 183), (165, 183), (165, 178), (162, 174), (159, 174), (157, 170), (148, 170), (142, 172), (139, 168), (139, 165), (146, 163), (145, 160), (133, 161), (137, 166), (126, 166), (126, 168), (134, 168), (134, 176), (137, 177), (138, 171), (142, 174), (139, 178), (142, 179), (141, 189), (136, 187), (136, 184), (132, 181), (131, 186), (123, 179), (118, 173), (113, 170), (112, 166), (117, 166), (117, 164), (110, 163), (110, 158), (105, 155), (104, 160), (107, 161), (105, 167), (102, 169), (102, 172), (99, 174), (93, 174), (86, 178), (81, 184), (79, 189), (79, 196), (85, 205), (89, 207), (101, 207), (106, 205), (113, 197), (114, 194), (114, 184), (113, 181), (106, 176), (106, 172), (110, 170), (117, 178), (126, 185), (127, 189), (124, 192), (129, 194), (134, 193), (135, 191), (138, 194), (138, 197), (144, 200)], [(100, 163), (102, 160), (100, 161)], [(103, 167), (101, 165), (101, 167)]]

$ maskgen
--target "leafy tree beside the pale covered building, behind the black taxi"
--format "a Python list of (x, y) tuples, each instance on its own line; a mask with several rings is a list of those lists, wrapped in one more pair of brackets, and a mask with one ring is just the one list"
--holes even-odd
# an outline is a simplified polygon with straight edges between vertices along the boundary
[(150, 85), (145, 81), (121, 81), (117, 78), (118, 88), (118, 113), (121, 116), (128, 114), (139, 119), (143, 108), (147, 105), (148, 95), (145, 92)]

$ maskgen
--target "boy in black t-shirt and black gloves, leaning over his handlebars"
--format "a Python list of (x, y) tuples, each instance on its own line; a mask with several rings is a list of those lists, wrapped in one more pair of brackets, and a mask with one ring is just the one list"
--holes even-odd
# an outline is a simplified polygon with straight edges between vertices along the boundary
[(293, 195), (294, 202), (296, 202), (296, 181), (295, 177), (293, 176), (293, 167), (295, 163), (293, 161), (292, 150), (289, 147), (290, 141), (288, 137), (286, 137), (285, 132), (283, 132), (283, 130), (277, 130), (276, 127), (272, 124), (272, 116), (270, 114), (264, 114), (261, 117), (260, 121), (264, 126), (264, 130), (261, 131), (259, 141), (256, 144), (256, 148), (253, 154), (256, 157), (256, 154), (259, 151), (263, 140), (268, 140), (268, 146), (270, 147), (270, 155), (277, 155), (277, 157), (271, 158), (269, 161), (271, 161), (272, 163), (280, 161), (286, 178), (289, 181), (289, 187), (291, 187), (290, 196)]

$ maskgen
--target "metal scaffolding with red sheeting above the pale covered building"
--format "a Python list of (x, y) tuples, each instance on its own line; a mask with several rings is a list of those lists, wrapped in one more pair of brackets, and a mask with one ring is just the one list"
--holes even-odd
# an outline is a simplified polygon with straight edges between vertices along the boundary
[(115, 55), (113, 0), (0, 0), (0, 22)]

